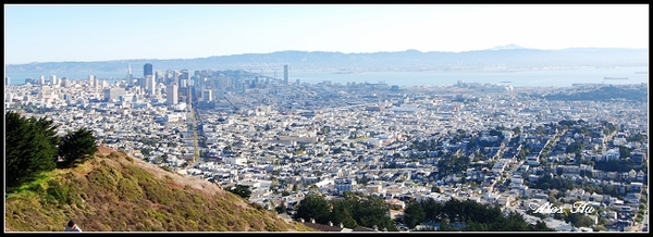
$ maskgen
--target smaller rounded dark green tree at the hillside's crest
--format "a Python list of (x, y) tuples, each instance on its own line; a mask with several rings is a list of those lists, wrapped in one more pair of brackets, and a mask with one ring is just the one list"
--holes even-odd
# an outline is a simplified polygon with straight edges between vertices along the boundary
[(91, 130), (79, 128), (75, 132), (67, 132), (61, 138), (59, 146), (59, 157), (63, 160), (60, 165), (71, 167), (78, 163), (84, 163), (93, 158), (98, 151), (98, 144)]

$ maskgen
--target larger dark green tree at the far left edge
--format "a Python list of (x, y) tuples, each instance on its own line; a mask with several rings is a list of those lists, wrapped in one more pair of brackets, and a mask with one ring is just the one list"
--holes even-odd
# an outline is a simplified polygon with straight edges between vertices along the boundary
[(10, 111), (4, 117), (4, 165), (7, 189), (34, 180), (57, 167), (57, 127), (48, 117), (25, 118)]

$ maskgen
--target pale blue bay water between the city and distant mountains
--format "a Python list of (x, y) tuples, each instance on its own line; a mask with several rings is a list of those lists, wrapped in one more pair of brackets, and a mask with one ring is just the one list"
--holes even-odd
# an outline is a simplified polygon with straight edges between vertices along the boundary
[[(461, 80), (465, 83), (498, 84), (510, 85), (514, 87), (570, 87), (574, 84), (648, 84), (649, 68), (641, 67), (613, 67), (613, 68), (565, 68), (565, 70), (530, 70), (517, 72), (361, 72), (361, 73), (335, 73), (318, 71), (289, 71), (288, 82), (318, 84), (330, 82), (331, 84), (346, 85), (356, 84), (377, 84), (385, 83), (399, 87), (412, 86), (444, 86), (454, 85)], [(190, 71), (193, 72), (193, 71)], [(263, 73), (263, 76), (274, 77), (272, 73)], [(7, 73), (11, 85), (21, 85), (25, 78), (38, 79), (45, 76), (46, 80), (52, 74), (34, 73)], [(98, 79), (104, 79), (109, 83), (123, 80), (125, 72), (93, 72), (93, 73), (59, 73), (58, 78), (67, 77), (69, 79), (88, 79), (88, 75), (94, 75)], [(137, 77), (138, 75), (134, 75)], [(276, 75), (282, 79), (283, 74)], [(621, 79), (604, 79), (604, 77)], [(624, 79), (627, 78), (627, 79)]]

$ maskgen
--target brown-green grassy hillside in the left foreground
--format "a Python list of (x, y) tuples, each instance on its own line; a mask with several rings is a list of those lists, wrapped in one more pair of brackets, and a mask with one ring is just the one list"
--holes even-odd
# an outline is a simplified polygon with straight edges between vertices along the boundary
[[(104, 153), (102, 153), (104, 152)], [(5, 232), (311, 232), (249, 204), (215, 184), (100, 149), (5, 194)]]

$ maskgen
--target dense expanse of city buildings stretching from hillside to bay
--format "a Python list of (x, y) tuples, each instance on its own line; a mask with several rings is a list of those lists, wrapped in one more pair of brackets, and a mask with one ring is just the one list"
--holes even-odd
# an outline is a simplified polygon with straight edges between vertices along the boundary
[(60, 133), (89, 127), (103, 146), (247, 186), (249, 201), (291, 214), (316, 189), (383, 197), (399, 210), (393, 215), (406, 200), (454, 198), (559, 232), (581, 226), (529, 207), (587, 203), (613, 232), (648, 223), (638, 217), (648, 219), (648, 84), (287, 84), (287, 65), (283, 78), (210, 70), (156, 78), (147, 68), (146, 80), (5, 86), (5, 110), (50, 116)]

